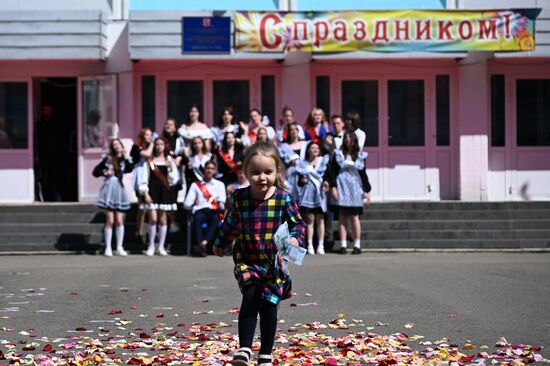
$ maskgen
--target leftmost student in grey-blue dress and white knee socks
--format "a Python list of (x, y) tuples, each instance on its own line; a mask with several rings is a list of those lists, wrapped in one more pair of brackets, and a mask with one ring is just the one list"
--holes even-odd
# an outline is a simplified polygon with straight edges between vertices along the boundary
[(109, 154), (94, 168), (94, 177), (105, 177), (97, 198), (97, 206), (105, 210), (105, 256), (112, 257), (111, 240), (113, 225), (116, 226), (116, 251), (125, 257), (128, 255), (123, 247), (124, 242), (124, 211), (130, 209), (128, 193), (122, 184), (124, 173), (132, 171), (132, 164), (124, 145), (119, 139), (111, 141)]

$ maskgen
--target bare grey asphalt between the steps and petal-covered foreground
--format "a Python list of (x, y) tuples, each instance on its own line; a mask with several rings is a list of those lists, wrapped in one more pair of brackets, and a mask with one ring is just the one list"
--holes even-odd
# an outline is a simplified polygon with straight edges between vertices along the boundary
[[(113, 319), (132, 319), (132, 329), (223, 321), (236, 332), (232, 268), (229, 257), (0, 257), (0, 350)], [(327, 254), (306, 257), (291, 273), (296, 294), (280, 306), (283, 331), (345, 318), (378, 334), (469, 341), (478, 350), (501, 337), (550, 345), (550, 254)], [(541, 354), (550, 356), (547, 348)]]

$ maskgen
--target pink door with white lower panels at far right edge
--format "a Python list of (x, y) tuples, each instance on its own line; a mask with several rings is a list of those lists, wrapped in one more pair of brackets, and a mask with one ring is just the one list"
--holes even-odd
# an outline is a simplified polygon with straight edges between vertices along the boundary
[(550, 74), (491, 75), (491, 200), (550, 199)]

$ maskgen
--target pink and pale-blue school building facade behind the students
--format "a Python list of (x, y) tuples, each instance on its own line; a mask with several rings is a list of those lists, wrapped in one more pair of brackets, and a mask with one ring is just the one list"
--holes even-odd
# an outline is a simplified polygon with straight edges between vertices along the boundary
[[(359, 112), (374, 200), (550, 199), (548, 2), (400, 4), (449, 12), (542, 6), (534, 51), (337, 53), (240, 52), (235, 14), (375, 9), (346, 1), (226, 2), (223, 10), (219, 1), (185, 9), (143, 3), (0, 4), (0, 203), (43, 198), (40, 151), (58, 162), (61, 200), (95, 200), (101, 181), (91, 171), (108, 139), (129, 148), (144, 126), (160, 131), (168, 116), (185, 121), (191, 104), (209, 125), (225, 105), (245, 121), (259, 108), (276, 125), (284, 106), (299, 122), (315, 106), (327, 115)], [(182, 51), (182, 18), (219, 16), (232, 21), (228, 52)], [(56, 122), (48, 131), (40, 131), (44, 105)]]

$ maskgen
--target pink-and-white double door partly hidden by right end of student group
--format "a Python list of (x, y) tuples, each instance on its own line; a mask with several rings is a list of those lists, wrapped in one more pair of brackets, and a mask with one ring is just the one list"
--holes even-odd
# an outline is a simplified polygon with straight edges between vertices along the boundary
[(428, 136), (435, 135), (429, 134), (433, 127), (427, 123), (427, 78), (342, 77), (338, 88), (334, 110), (362, 117), (373, 195), (384, 200), (439, 199), (427, 169)]

